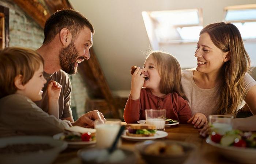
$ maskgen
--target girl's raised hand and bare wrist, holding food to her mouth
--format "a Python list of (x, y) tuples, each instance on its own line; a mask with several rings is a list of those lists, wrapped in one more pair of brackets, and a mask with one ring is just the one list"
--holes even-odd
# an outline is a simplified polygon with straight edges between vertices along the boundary
[(131, 86), (131, 98), (136, 100), (140, 98), (140, 90), (144, 84), (144, 74), (142, 74), (142, 69), (137, 67), (132, 75), (132, 86)]

